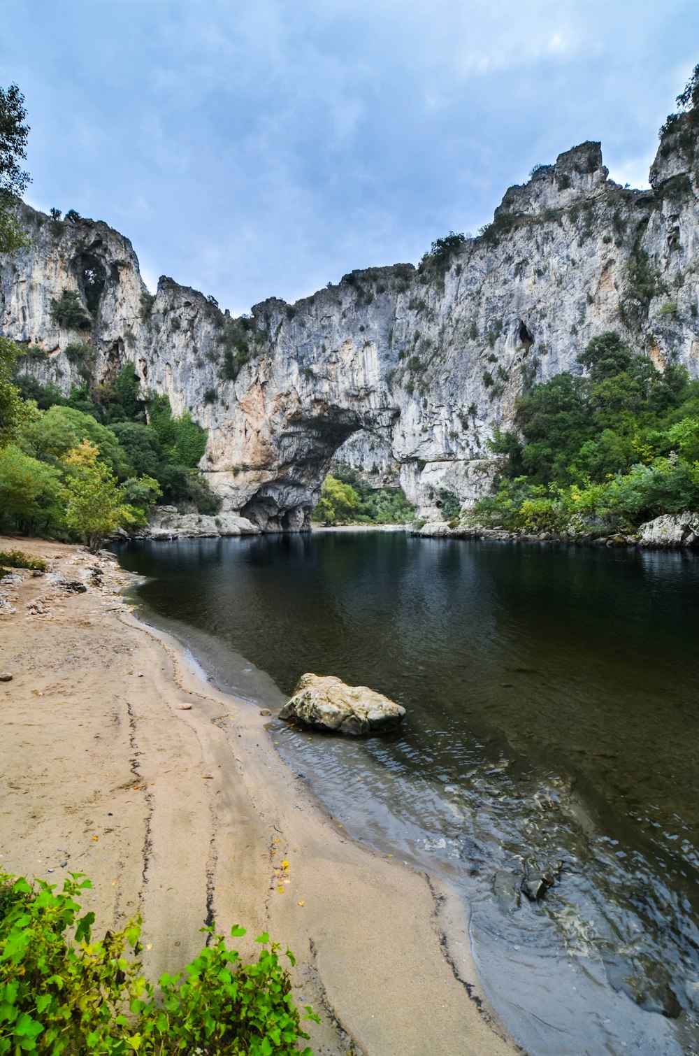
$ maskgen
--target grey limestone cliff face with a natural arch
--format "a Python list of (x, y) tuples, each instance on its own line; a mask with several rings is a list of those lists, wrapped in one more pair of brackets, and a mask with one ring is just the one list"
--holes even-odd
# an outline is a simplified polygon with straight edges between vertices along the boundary
[[(653, 189), (632, 191), (607, 178), (599, 144), (583, 144), (510, 188), (493, 224), (446, 261), (355, 271), (241, 320), (166, 278), (151, 298), (131, 243), (106, 224), (22, 207), (33, 241), (2, 261), (0, 324), (32, 342), (23, 369), (65, 392), (86, 370), (65, 348), (87, 333), (94, 382), (133, 362), (145, 393), (209, 430), (203, 471), (224, 509), (263, 530), (307, 524), (336, 452), (397, 473), (438, 516), (441, 489), (468, 504), (488, 487), (486, 441), (511, 425), (516, 396), (579, 370), (597, 334), (619, 331), (660, 367), (676, 358), (699, 374), (695, 149), (675, 126)], [(52, 321), (64, 288), (95, 308), (91, 332)]]

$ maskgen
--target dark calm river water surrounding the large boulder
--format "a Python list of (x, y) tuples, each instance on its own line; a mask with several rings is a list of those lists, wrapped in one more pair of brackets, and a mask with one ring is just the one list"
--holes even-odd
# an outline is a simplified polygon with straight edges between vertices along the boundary
[[(465, 891), (527, 1051), (699, 1052), (699, 560), (393, 532), (120, 557), (223, 685), (332, 673), (408, 709), (382, 739), (273, 736), (350, 831)], [(559, 879), (507, 912), (494, 874), (527, 859)]]

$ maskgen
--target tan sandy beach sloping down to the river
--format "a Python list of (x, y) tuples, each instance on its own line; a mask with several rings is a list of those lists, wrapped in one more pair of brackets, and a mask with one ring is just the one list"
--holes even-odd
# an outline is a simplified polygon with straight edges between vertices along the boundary
[(0, 683), (0, 868), (58, 884), (87, 873), (97, 930), (140, 911), (152, 977), (197, 953), (206, 922), (248, 928), (244, 956), (267, 930), (297, 956), (297, 1004), (321, 1016), (317, 1056), (518, 1051), (479, 993), (459, 900), (352, 842), (279, 758), (269, 717), (136, 620), (114, 558), (0, 538), (15, 547), (49, 572), (0, 581), (13, 676)]

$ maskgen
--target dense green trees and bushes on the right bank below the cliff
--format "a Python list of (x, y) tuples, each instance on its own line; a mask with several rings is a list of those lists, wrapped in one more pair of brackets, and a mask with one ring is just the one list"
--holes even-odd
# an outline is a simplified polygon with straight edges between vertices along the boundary
[(578, 356), (516, 404), (517, 433), (496, 433), (494, 494), (469, 518), (525, 531), (634, 531), (660, 513), (699, 507), (699, 381), (658, 370), (618, 334)]

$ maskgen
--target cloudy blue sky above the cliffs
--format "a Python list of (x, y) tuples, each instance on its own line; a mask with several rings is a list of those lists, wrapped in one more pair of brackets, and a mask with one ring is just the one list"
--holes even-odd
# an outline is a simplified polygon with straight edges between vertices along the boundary
[(19, 0), (0, 34), (25, 200), (233, 315), (417, 263), (585, 139), (647, 186), (697, 62), (697, 0)]

